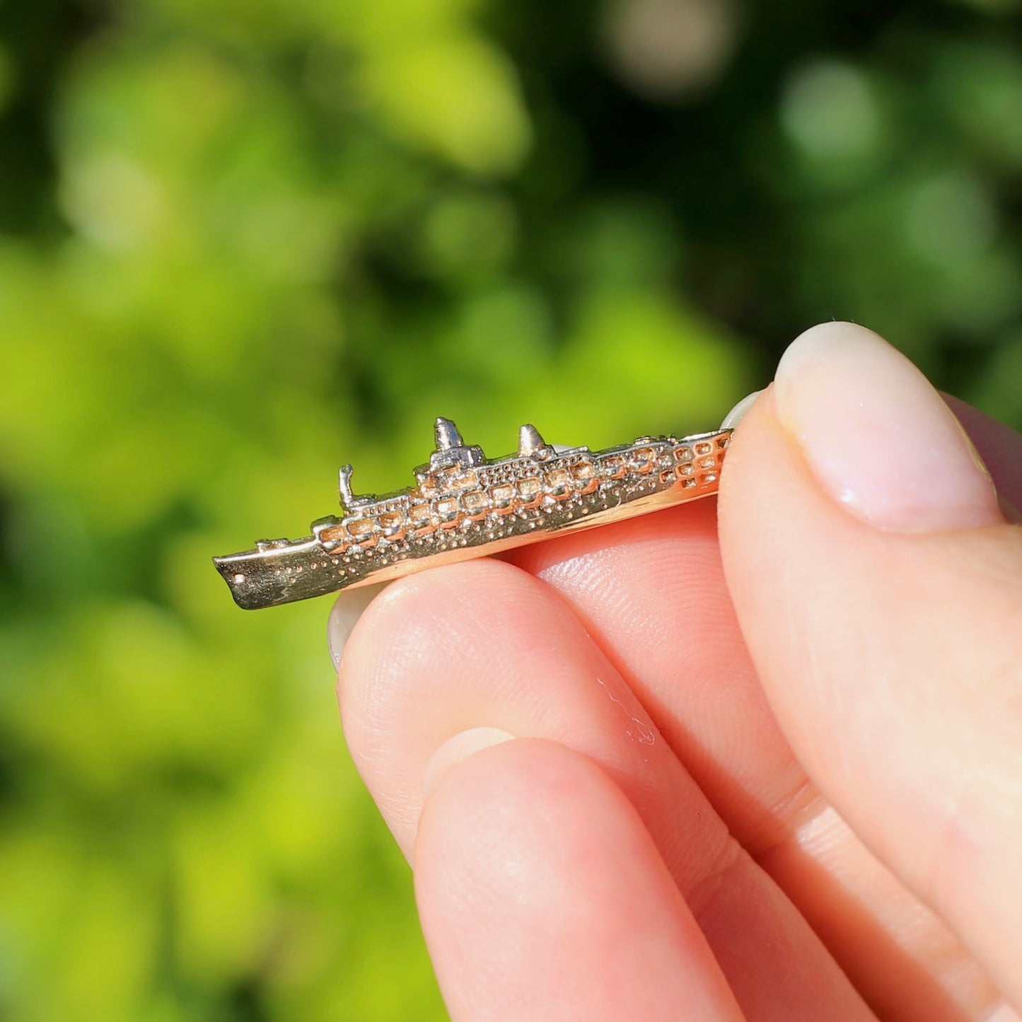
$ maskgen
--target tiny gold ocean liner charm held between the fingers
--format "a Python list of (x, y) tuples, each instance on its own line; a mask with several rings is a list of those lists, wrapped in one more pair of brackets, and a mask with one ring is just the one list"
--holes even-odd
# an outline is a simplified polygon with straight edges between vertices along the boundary
[(518, 453), (489, 460), (466, 447), (450, 419), (437, 419), (436, 450), (415, 470), (415, 485), (382, 497), (352, 493), (340, 470), (344, 515), (312, 524), (304, 540), (261, 540), (254, 550), (215, 557), (246, 610), (387, 582), (590, 528), (716, 493), (730, 429), (641, 436), (590, 451), (519, 432)]

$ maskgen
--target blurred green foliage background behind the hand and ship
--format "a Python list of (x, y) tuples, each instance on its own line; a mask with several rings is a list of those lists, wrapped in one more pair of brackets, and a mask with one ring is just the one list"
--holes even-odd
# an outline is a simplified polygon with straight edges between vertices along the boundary
[(810, 323), (1022, 425), (1017, 0), (0, 4), (0, 1016), (443, 1017), (329, 601), (453, 416), (696, 430)]

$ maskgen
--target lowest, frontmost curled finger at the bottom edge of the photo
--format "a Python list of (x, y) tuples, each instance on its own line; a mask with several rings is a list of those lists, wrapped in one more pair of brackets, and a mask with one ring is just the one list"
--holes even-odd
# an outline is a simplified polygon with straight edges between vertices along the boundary
[(453, 1018), (741, 1018), (636, 809), (591, 758), (517, 739), (454, 765), (415, 854)]

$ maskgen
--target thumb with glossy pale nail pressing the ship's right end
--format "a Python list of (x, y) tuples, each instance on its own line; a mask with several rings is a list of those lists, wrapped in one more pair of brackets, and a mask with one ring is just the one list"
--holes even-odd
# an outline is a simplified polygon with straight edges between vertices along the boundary
[(1022, 529), (958, 420), (876, 334), (816, 327), (742, 419), (719, 519), (796, 755), (1022, 1005)]

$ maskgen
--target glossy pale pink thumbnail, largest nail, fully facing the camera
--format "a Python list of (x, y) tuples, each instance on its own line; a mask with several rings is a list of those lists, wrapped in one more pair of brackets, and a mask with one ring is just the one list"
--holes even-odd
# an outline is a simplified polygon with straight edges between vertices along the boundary
[(989, 473), (926, 377), (851, 323), (807, 330), (784, 353), (777, 414), (848, 511), (905, 532), (1003, 521)]

